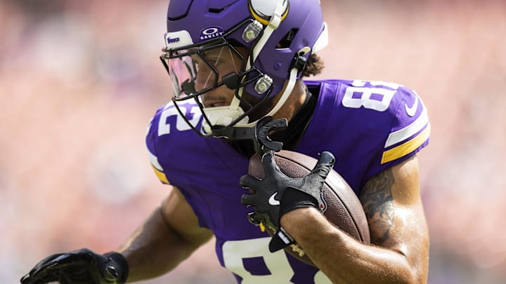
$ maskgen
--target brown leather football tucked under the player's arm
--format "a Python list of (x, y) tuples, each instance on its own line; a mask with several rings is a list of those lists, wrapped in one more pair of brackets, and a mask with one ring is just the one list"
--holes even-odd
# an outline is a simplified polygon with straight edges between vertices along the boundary
[[(311, 156), (281, 150), (275, 152), (275, 162), (285, 175), (304, 177), (313, 170), (318, 161)], [(249, 159), (248, 174), (260, 180), (265, 177), (259, 154), (254, 154)], [(369, 226), (362, 205), (349, 184), (335, 170), (331, 170), (325, 180), (323, 200), (326, 203), (323, 214), (332, 224), (358, 241), (365, 244), (370, 243)], [(272, 228), (266, 228), (266, 231), (271, 236), (275, 233)], [(302, 262), (314, 266), (311, 259), (297, 243), (285, 248), (285, 251)]]

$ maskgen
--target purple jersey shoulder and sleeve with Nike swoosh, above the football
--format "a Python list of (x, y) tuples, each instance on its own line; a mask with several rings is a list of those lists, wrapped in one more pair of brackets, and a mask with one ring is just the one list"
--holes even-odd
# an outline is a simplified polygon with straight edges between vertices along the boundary
[(376, 81), (311, 81), (318, 106), (297, 151), (332, 151), (335, 170), (358, 194), (371, 177), (429, 142), (427, 109), (404, 86)]

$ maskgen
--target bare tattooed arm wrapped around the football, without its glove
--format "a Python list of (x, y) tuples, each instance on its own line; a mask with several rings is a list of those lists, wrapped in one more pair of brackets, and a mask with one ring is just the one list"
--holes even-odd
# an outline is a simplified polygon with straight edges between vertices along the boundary
[(337, 229), (316, 208), (292, 210), (280, 222), (333, 283), (426, 283), (429, 233), (417, 158), (372, 177), (360, 199), (372, 245)]

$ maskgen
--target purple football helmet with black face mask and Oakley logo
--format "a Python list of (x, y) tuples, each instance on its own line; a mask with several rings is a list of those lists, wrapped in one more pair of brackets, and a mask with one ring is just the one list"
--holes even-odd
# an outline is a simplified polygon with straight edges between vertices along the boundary
[[(327, 27), (318, 0), (171, 0), (164, 39), (181, 116), (195, 100), (204, 120), (197, 129), (186, 119), (193, 130), (245, 139), (286, 101), (309, 55), (327, 45)], [(232, 101), (209, 98), (217, 90)]]

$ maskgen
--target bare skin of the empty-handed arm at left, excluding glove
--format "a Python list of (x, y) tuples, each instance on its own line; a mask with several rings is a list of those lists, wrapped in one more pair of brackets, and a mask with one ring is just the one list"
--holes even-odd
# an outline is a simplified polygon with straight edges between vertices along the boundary
[(162, 205), (119, 248), (129, 264), (127, 281), (167, 273), (211, 237), (212, 232), (199, 226), (190, 205), (174, 187)]

